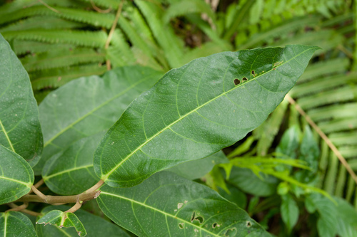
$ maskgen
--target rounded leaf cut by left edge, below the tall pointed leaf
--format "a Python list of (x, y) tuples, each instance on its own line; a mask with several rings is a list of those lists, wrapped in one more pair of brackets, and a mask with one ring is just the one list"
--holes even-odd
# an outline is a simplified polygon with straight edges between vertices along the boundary
[(34, 172), (19, 154), (0, 145), (0, 204), (15, 201), (31, 190)]

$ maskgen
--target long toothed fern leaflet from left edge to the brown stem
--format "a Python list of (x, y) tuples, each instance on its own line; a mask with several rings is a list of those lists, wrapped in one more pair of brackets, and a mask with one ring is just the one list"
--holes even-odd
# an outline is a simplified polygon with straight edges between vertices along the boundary
[(104, 48), (106, 33), (104, 31), (65, 31), (65, 30), (29, 30), (10, 31), (2, 34), (7, 41), (13, 39), (41, 41), (46, 43), (71, 43), (76, 46)]

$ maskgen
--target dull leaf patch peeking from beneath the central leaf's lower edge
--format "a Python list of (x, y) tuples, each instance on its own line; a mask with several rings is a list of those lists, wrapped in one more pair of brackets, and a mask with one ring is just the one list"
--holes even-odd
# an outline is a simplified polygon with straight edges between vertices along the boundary
[(226, 155), (219, 151), (204, 159), (193, 160), (178, 164), (176, 167), (168, 169), (186, 179), (199, 179), (210, 172), (216, 164), (227, 163), (229, 160)]

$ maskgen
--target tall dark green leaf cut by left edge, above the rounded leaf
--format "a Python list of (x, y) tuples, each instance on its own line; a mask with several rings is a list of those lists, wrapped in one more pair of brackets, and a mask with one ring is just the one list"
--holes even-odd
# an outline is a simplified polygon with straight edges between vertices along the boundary
[(38, 162), (43, 140), (29, 75), (0, 34), (0, 144)]

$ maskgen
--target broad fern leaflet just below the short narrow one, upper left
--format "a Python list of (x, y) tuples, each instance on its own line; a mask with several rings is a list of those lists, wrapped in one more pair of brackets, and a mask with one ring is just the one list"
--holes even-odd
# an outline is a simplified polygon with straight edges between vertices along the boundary
[(28, 71), (44, 70), (51, 68), (64, 68), (82, 63), (101, 63), (104, 53), (98, 53), (91, 48), (76, 48), (69, 50), (57, 49), (36, 55), (21, 58), (21, 63)]

